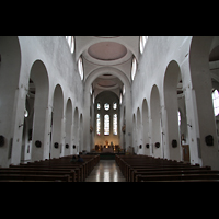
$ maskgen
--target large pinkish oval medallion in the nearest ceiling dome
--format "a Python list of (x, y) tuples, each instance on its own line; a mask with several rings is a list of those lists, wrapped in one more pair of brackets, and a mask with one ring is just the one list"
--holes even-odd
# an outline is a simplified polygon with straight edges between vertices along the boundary
[(90, 46), (88, 53), (95, 59), (111, 61), (123, 58), (127, 54), (127, 49), (118, 43), (101, 42)]

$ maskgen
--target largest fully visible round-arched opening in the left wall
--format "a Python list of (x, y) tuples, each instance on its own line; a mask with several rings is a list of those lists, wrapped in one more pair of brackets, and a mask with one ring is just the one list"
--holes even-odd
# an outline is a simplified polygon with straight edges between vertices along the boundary
[[(49, 93), (48, 71), (45, 64), (37, 59), (33, 62), (30, 72), (28, 93), (33, 104), (33, 131), (32, 131), (32, 161), (44, 159), (48, 154), (48, 131), (47, 131), (47, 106)], [(30, 122), (30, 119), (28, 119)], [(31, 127), (30, 127), (31, 128)], [(37, 148), (35, 141), (42, 142), (42, 147)], [(47, 152), (46, 152), (47, 151)]]

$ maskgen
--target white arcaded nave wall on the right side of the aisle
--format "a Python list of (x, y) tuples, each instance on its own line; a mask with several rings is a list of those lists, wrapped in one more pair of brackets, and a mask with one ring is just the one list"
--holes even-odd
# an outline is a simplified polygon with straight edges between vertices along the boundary
[[(191, 45), (193, 45), (192, 39), (193, 39), (192, 37), (185, 37), (185, 36), (182, 36), (182, 37), (149, 36), (148, 42), (146, 44), (145, 51), (139, 57), (138, 71), (131, 84), (132, 115), (134, 114), (137, 115), (137, 108), (139, 107), (140, 115), (141, 115), (140, 117), (142, 118), (142, 101), (143, 99), (146, 99), (147, 103), (149, 104), (148, 122), (149, 122), (150, 130), (149, 130), (148, 137), (150, 141), (150, 155), (155, 155), (154, 146), (153, 146), (154, 140), (153, 140), (153, 135), (152, 135), (153, 132), (152, 127), (154, 125), (154, 118), (152, 118), (152, 114), (154, 112), (151, 112), (151, 106), (150, 106), (151, 91), (152, 91), (152, 87), (155, 84), (159, 89), (160, 104), (161, 104), (161, 108), (159, 108), (157, 112), (157, 114), (161, 115), (159, 131), (161, 132), (161, 136), (163, 136), (163, 138), (161, 139), (162, 151), (159, 154), (159, 157), (164, 157), (164, 158), (173, 159), (173, 160), (182, 160), (182, 150), (180, 148), (175, 150), (170, 146), (170, 142), (172, 139), (169, 139), (169, 136), (171, 136), (169, 134), (170, 131), (172, 131), (170, 129), (172, 125), (170, 124), (170, 126), (168, 126), (168, 123), (170, 123), (169, 120), (170, 118), (168, 119), (166, 117), (166, 106), (164, 102), (164, 76), (165, 76), (168, 65), (172, 60), (174, 60), (180, 67), (180, 72), (183, 80), (183, 91), (184, 91), (185, 97), (183, 102), (182, 101), (178, 102), (178, 107), (182, 108), (183, 113), (186, 113), (186, 115), (184, 114), (184, 117), (183, 117), (184, 125), (182, 129), (187, 131), (186, 139), (191, 149), (191, 162), (199, 163), (200, 165), (211, 165), (212, 169), (219, 169), (218, 142), (217, 142), (217, 136), (215, 134), (216, 126), (214, 125), (215, 117), (212, 115), (210, 90), (209, 90), (208, 96), (206, 94), (206, 92), (208, 92), (208, 89), (210, 88), (210, 83), (207, 87), (201, 85), (201, 90), (199, 85), (193, 87), (193, 84), (203, 84), (203, 82), (206, 79), (204, 79), (205, 74), (200, 74), (200, 76), (197, 74), (197, 72), (199, 73), (201, 72), (201, 68), (199, 68), (199, 70), (197, 71), (198, 65), (196, 65), (196, 67), (194, 67), (194, 71), (191, 72), (191, 66), (193, 66), (194, 62), (198, 64), (200, 61), (200, 58), (198, 56), (196, 57), (196, 54), (194, 53), (194, 50), (197, 48), (195, 48), (194, 50), (191, 49)], [(206, 41), (207, 46), (205, 45), (205, 41)], [(208, 61), (208, 56), (209, 56), (208, 50), (210, 49), (210, 43), (209, 43), (210, 41), (212, 42), (212, 39), (204, 38), (203, 42), (200, 42), (199, 44), (200, 48), (204, 47), (203, 50), (200, 49), (199, 54), (201, 57), (206, 57), (205, 61)], [(196, 44), (198, 45), (198, 43)], [(193, 60), (189, 59), (189, 56), (192, 53), (193, 53), (193, 57), (195, 57)], [(208, 71), (206, 70), (206, 72)], [(193, 77), (193, 73), (196, 73), (199, 78)], [(199, 80), (203, 80), (203, 81), (199, 83)], [(207, 80), (210, 81), (209, 73), (208, 73)], [(198, 100), (200, 99), (201, 102), (200, 101), (197, 102), (197, 97)], [(210, 103), (210, 104), (206, 104), (206, 103)], [(208, 105), (208, 108), (206, 107), (206, 105)], [(204, 111), (205, 111), (204, 108), (206, 108), (206, 113), (208, 112), (208, 114), (204, 114)], [(201, 117), (198, 116), (199, 113), (203, 114)], [(130, 116), (132, 117), (132, 115)], [(160, 116), (160, 115), (157, 115), (157, 116)], [(174, 115), (176, 114), (174, 113)], [(207, 116), (210, 116), (210, 119), (207, 119), (208, 118)], [(201, 126), (199, 125), (200, 122), (203, 124)], [(185, 123), (192, 125), (192, 127), (189, 126), (185, 127)], [(209, 125), (205, 126), (204, 125), (205, 123)], [(142, 120), (141, 120), (141, 124), (142, 124)], [(209, 129), (209, 127), (211, 128)], [(172, 128), (176, 129), (177, 126), (172, 127)], [(215, 139), (214, 147), (206, 146), (205, 136), (207, 134), (208, 135), (211, 134), (214, 136), (214, 139)], [(141, 135), (147, 135), (147, 134), (141, 134)], [(175, 135), (174, 138), (177, 138), (177, 131), (175, 131), (174, 135)], [(199, 147), (198, 139), (200, 139), (200, 147)], [(181, 147), (180, 142), (177, 147)], [(175, 152), (173, 152), (173, 150), (175, 150)], [(147, 151), (147, 149), (145, 151)]]

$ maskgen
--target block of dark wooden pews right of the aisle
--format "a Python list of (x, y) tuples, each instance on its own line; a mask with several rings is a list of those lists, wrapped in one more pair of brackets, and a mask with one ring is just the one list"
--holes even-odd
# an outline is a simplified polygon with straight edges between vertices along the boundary
[(129, 182), (218, 181), (219, 171), (210, 166), (158, 159), (148, 155), (116, 155), (122, 173)]

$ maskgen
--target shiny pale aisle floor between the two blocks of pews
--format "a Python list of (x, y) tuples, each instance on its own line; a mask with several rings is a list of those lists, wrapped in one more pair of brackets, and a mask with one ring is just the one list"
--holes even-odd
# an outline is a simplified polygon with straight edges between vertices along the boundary
[(115, 160), (100, 160), (85, 182), (126, 182)]

